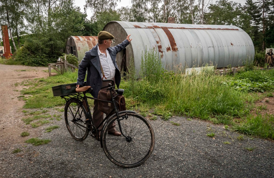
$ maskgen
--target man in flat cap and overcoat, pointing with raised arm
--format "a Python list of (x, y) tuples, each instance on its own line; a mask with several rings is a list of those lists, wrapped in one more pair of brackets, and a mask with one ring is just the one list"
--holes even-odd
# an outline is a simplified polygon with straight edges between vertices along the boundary
[[(85, 74), (86, 70), (88, 70), (87, 86), (91, 86), (93, 88), (91, 94), (94, 98), (98, 98), (99, 90), (101, 87), (106, 86), (106, 83), (103, 84), (102, 79), (114, 79), (117, 87), (119, 88), (121, 74), (116, 64), (116, 54), (129, 45), (132, 40), (129, 39), (129, 37), (130, 35), (128, 35), (121, 44), (110, 47), (114, 36), (107, 31), (100, 31), (98, 33), (98, 44), (85, 53), (85, 57), (79, 64), (76, 87), (79, 88), (84, 86)], [(100, 63), (102, 65), (104, 75), (101, 71)], [(95, 127), (97, 127), (104, 119), (104, 113), (98, 110), (98, 101), (96, 100), (94, 100), (92, 117)], [(108, 129), (108, 133), (115, 136), (120, 136), (121, 133), (116, 131), (115, 125), (115, 122), (113, 122), (112, 126)], [(101, 125), (98, 129), (99, 136), (96, 136), (97, 138), (100, 138), (102, 127), (103, 125)]]

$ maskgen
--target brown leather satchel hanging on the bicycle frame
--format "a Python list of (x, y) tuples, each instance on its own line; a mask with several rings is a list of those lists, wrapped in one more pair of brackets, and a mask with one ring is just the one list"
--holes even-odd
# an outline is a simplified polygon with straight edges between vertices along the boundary
[[(125, 111), (126, 110), (125, 97), (123, 95), (117, 94), (114, 91), (111, 91), (111, 92), (113, 94), (113, 98), (116, 102), (116, 106), (117, 106), (118, 110)], [(98, 93), (98, 99), (111, 101), (110, 91), (100, 90)], [(114, 106), (112, 103), (98, 101), (99, 111), (104, 112), (105, 114), (108, 114), (110, 111), (112, 111), (113, 108), (114, 108)]]

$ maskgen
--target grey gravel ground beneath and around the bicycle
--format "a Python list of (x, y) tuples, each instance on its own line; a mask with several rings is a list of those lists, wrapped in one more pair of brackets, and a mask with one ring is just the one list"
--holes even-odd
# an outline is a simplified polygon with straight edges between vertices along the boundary
[[(238, 133), (225, 130), (223, 125), (185, 117), (151, 120), (156, 142), (152, 155), (139, 167), (122, 168), (107, 159), (94, 138), (73, 140), (63, 113), (56, 108), (47, 110), (47, 114), (61, 115), (61, 119), (36, 129), (24, 126), (22, 121), (16, 123), (15, 118), (24, 117), (21, 111), (0, 118), (1, 127), (5, 119), (21, 130), (34, 130), (24, 140), (34, 135), (52, 140), (40, 146), (11, 141), (2, 136), (4, 129), (0, 128), (0, 177), (274, 177), (274, 143), (247, 136), (239, 140)], [(60, 127), (45, 133), (45, 127), (51, 125)], [(207, 136), (211, 132), (214, 138)], [(20, 133), (10, 137), (19, 137)], [(12, 154), (16, 148), (22, 151)]]

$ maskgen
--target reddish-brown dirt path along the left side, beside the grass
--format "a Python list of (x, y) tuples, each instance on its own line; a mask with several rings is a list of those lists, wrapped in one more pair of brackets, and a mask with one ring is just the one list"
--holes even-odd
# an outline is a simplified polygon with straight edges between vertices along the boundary
[[(25, 79), (44, 78), (48, 76), (47, 67), (30, 67), (0, 64), (0, 145), (21, 143), (25, 139), (20, 133), (27, 129), (21, 118), (24, 101), (20, 100), (20, 90), (27, 86), (20, 85)], [(15, 85), (19, 84), (19, 85)], [(31, 135), (35, 135), (32, 129)], [(0, 147), (1, 151), (1, 147)]]

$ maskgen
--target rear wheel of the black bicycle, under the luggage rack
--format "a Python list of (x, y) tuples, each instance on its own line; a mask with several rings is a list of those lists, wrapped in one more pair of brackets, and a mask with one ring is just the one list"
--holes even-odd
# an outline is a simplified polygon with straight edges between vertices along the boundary
[(79, 99), (69, 99), (65, 104), (65, 123), (70, 135), (78, 141), (83, 141), (89, 135), (85, 124), (87, 112)]

